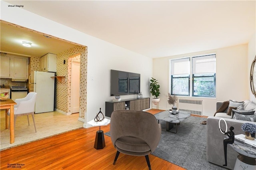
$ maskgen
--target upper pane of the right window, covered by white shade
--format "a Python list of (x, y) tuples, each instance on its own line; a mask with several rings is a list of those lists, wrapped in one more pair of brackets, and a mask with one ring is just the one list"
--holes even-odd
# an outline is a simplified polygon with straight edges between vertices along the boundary
[(192, 73), (216, 73), (215, 55), (192, 57)]

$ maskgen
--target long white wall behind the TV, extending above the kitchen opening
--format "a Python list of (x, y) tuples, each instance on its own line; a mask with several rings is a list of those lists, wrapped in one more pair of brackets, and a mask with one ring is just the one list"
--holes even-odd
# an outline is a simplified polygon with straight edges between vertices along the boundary
[[(114, 98), (110, 97), (110, 69), (140, 73), (142, 94), (144, 97), (150, 97), (149, 81), (152, 77), (152, 59), (68, 28), (22, 8), (10, 8), (4, 1), (0, 2), (0, 9), (1, 20), (88, 47), (86, 122), (94, 119), (100, 108), (105, 113), (105, 101)], [(121, 98), (127, 99), (135, 96), (126, 95)]]

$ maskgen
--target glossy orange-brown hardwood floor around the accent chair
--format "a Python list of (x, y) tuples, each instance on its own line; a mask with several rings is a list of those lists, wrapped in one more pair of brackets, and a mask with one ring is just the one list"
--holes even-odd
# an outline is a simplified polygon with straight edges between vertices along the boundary
[[(157, 113), (156, 109), (150, 111)], [(0, 169), (27, 170), (148, 170), (144, 156), (129, 156), (120, 153), (113, 165), (116, 149), (109, 136), (104, 135), (106, 146), (94, 148), (99, 127), (80, 128), (15, 146), (0, 152)], [(101, 127), (108, 132), (110, 125)], [(152, 170), (184, 170), (175, 164), (149, 155)]]

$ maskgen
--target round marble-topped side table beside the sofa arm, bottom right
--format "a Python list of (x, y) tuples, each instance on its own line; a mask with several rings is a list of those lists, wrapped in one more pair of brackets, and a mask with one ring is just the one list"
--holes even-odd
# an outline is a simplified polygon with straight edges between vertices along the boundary
[(233, 144), (229, 144), (236, 152), (238, 156), (236, 158), (236, 164), (234, 170), (255, 170), (256, 169), (256, 149), (249, 147), (238, 141), (234, 141)]

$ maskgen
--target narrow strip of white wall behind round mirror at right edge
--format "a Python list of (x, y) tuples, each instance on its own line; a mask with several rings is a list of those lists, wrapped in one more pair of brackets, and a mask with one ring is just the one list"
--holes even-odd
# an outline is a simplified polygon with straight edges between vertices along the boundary
[[(250, 42), (248, 43), (248, 81), (250, 81), (250, 68), (252, 65), (252, 61), (256, 56), (256, 33), (252, 36)], [(251, 92), (250, 84), (248, 85), (248, 94), (250, 96), (250, 100), (256, 103), (256, 98)]]

